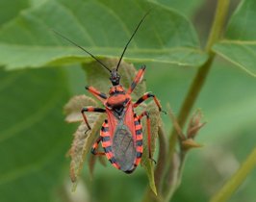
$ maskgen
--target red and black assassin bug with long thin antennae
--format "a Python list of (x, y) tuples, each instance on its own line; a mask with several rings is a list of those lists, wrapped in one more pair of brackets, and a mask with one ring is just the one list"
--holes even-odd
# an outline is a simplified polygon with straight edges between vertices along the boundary
[[(93, 96), (95, 96), (98, 100), (102, 102), (105, 109), (95, 107), (84, 107), (81, 113), (88, 127), (88, 130), (90, 130), (91, 128), (86, 113), (107, 114), (107, 119), (105, 119), (100, 130), (100, 136), (92, 145), (91, 153), (93, 155), (106, 155), (107, 159), (111, 162), (111, 164), (115, 166), (115, 168), (120, 169), (125, 173), (132, 173), (136, 169), (138, 164), (140, 164), (141, 162), (141, 156), (143, 151), (141, 118), (144, 116), (146, 117), (147, 125), (149, 159), (154, 161), (152, 159), (150, 148), (151, 133), (149, 114), (148, 112), (144, 111), (140, 115), (137, 115), (135, 114), (134, 109), (137, 108), (143, 101), (152, 97), (159, 111), (162, 111), (160, 102), (158, 101), (156, 96), (151, 92), (146, 92), (137, 102), (132, 102), (131, 93), (133, 92), (134, 88), (136, 88), (138, 83), (141, 82), (145, 70), (145, 65), (141, 66), (141, 69), (138, 71), (133, 83), (131, 84), (130, 88), (128, 88), (128, 90), (125, 90), (119, 84), (120, 75), (118, 74), (118, 68), (123, 58), (123, 55), (130, 41), (132, 40), (132, 38), (134, 38), (139, 27), (141, 26), (142, 21), (144, 20), (145, 16), (148, 13), (149, 12), (145, 13), (144, 16), (142, 17), (133, 35), (126, 43), (116, 67), (112, 70), (104, 63), (99, 61), (97, 58), (95, 58), (85, 48), (54, 31), (62, 38), (68, 40), (70, 43), (74, 44), (75, 46), (79, 47), (80, 49), (88, 53), (90, 57), (92, 57), (95, 61), (100, 63), (105, 69), (107, 69), (110, 72), (110, 80), (113, 86), (109, 90), (109, 96), (107, 96), (103, 92), (100, 92), (96, 88), (86, 87), (86, 89), (89, 90), (89, 92)], [(86, 131), (86, 133), (87, 132), (88, 131)], [(100, 142), (102, 144), (104, 152), (97, 151)]]

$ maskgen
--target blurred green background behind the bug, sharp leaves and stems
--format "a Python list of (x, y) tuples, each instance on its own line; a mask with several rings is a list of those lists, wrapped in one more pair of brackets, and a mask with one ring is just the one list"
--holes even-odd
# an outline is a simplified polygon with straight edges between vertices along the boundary
[[(1, 0), (0, 33), (18, 15), (45, 2)], [(159, 2), (192, 20), (204, 47), (217, 1)], [(230, 14), (239, 3), (231, 1)], [(18, 24), (26, 26), (22, 21)], [(15, 55), (13, 60), (17, 60)], [(139, 68), (141, 63), (135, 65)], [(197, 68), (153, 62), (146, 65), (147, 89), (160, 98), (163, 106), (170, 103), (177, 114)], [(0, 201), (141, 201), (147, 186), (141, 167), (133, 175), (125, 175), (111, 164), (97, 164), (91, 180), (85, 164), (78, 189), (71, 193), (65, 154), (75, 125), (64, 122), (63, 107), (72, 95), (85, 93), (87, 81), (79, 64), (13, 71), (5, 71), (3, 65), (0, 78)], [(255, 78), (217, 57), (194, 107), (201, 109), (207, 121), (196, 139), (204, 147), (190, 153), (182, 184), (172, 201), (208, 201), (255, 147), (255, 88)], [(169, 131), (170, 120), (162, 117)], [(256, 170), (230, 201), (255, 201), (255, 182)]]

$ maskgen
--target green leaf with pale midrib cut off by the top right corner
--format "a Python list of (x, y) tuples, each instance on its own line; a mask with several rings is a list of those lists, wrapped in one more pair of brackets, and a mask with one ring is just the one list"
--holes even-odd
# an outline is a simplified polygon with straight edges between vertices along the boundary
[(254, 77), (256, 77), (255, 10), (256, 1), (244, 0), (232, 15), (224, 39), (213, 48), (219, 56)]

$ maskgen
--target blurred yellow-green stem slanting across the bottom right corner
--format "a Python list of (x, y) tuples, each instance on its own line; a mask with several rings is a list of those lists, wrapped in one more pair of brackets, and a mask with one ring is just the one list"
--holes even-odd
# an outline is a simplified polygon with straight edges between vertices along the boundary
[(247, 157), (240, 169), (234, 176), (218, 191), (218, 193), (210, 200), (210, 202), (224, 202), (227, 201), (232, 193), (241, 186), (247, 175), (256, 166), (256, 147)]

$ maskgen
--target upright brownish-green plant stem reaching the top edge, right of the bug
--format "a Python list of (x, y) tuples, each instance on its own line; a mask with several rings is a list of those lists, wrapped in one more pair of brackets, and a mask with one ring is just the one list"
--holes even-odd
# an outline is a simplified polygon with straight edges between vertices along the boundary
[[(228, 12), (229, 2), (230, 2), (230, 0), (218, 0), (214, 23), (211, 28), (211, 32), (210, 32), (210, 35), (209, 35), (209, 38), (207, 40), (207, 44), (205, 47), (205, 51), (206, 51), (206, 53), (208, 53), (209, 58), (206, 63), (204, 63), (202, 66), (199, 67), (199, 69), (192, 81), (191, 88), (189, 89), (187, 96), (182, 104), (181, 110), (177, 117), (178, 123), (181, 128), (184, 128), (184, 125), (188, 120), (189, 114), (192, 111), (192, 107), (195, 103), (195, 100), (198, 97), (199, 92), (205, 83), (207, 75), (208, 75), (208, 73), (211, 69), (212, 63), (215, 59), (216, 54), (212, 51), (212, 46), (218, 41), (218, 39), (220, 38), (220, 36), (222, 34), (224, 22), (226, 19), (226, 14)], [(174, 145), (176, 144), (177, 140), (178, 140), (177, 133), (173, 129), (171, 132), (171, 135), (169, 137), (168, 162), (166, 164), (172, 163), (172, 157), (173, 157), (174, 150), (175, 150)], [(186, 159), (185, 156), (183, 156), (181, 161), (184, 161), (185, 159)], [(184, 164), (184, 163), (181, 162), (181, 164)], [(182, 170), (182, 169), (180, 169), (180, 170)], [(171, 170), (167, 170), (167, 172), (171, 172)], [(168, 173), (166, 173), (166, 175), (167, 174)], [(179, 174), (179, 176), (181, 176), (181, 174)], [(169, 191), (173, 191), (171, 188), (164, 188), (164, 190), (165, 189), (169, 189)], [(164, 195), (166, 196), (166, 201), (168, 201), (172, 196), (172, 194), (169, 194), (168, 190), (164, 193)]]

